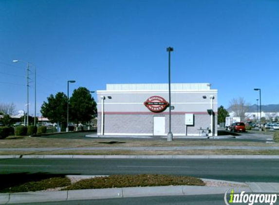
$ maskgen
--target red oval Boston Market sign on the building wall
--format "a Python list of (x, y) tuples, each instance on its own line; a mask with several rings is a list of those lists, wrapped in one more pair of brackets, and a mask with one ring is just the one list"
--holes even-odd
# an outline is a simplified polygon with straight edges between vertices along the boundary
[(152, 112), (163, 112), (168, 107), (168, 102), (160, 96), (152, 96), (144, 102), (144, 105)]

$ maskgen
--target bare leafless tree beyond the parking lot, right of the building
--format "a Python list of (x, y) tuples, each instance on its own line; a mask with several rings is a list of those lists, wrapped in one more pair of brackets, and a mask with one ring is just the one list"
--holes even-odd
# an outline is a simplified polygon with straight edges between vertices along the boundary
[(249, 103), (246, 103), (244, 98), (232, 99), (230, 102), (230, 109), (234, 112), (234, 117), (240, 117), (241, 121), (246, 119), (245, 113), (249, 111)]

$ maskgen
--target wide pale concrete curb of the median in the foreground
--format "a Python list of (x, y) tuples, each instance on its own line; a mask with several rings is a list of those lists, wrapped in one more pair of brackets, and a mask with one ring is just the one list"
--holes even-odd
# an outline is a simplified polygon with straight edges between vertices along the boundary
[[(230, 188), (233, 187), (166, 186), (3, 193), (0, 194), (0, 204), (21, 204), (31, 202), (55, 202), (145, 196), (224, 194), (225, 191)], [(241, 191), (252, 192), (250, 188), (234, 188), (234, 190), (235, 193), (239, 193)]]

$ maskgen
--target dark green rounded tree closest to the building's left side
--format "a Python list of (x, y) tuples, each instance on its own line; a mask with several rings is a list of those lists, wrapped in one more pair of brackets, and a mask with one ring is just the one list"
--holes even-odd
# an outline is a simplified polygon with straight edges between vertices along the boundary
[(74, 122), (84, 123), (93, 119), (97, 114), (96, 102), (85, 87), (74, 89), (70, 98), (70, 118)]

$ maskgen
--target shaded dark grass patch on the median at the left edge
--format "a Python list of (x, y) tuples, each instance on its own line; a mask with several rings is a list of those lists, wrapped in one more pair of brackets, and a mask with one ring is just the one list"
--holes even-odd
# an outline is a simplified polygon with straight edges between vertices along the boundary
[(48, 188), (66, 187), (71, 184), (71, 180), (67, 177), (52, 177), (40, 181), (31, 181), (18, 186), (0, 189), (1, 193), (15, 193), (27, 191), (46, 190)]

